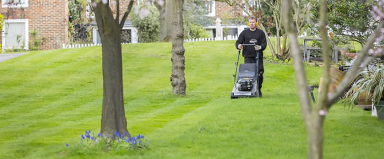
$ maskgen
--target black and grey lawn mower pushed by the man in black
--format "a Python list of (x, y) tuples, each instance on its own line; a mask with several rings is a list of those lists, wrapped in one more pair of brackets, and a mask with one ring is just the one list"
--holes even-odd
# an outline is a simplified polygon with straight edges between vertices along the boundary
[[(256, 44), (241, 44), (243, 47), (255, 46)], [(256, 63), (240, 64), (240, 51), (237, 55), (235, 74), (233, 74), (234, 85), (231, 92), (231, 99), (239, 97), (259, 97), (259, 51), (256, 51)], [(237, 74), (238, 67), (238, 74)]]

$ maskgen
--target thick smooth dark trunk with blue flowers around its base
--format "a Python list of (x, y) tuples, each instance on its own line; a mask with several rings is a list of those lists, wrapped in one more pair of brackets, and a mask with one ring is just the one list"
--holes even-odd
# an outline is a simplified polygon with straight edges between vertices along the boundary
[(94, 7), (102, 43), (103, 107), (101, 129), (105, 137), (128, 133), (123, 100), (121, 28), (107, 4)]

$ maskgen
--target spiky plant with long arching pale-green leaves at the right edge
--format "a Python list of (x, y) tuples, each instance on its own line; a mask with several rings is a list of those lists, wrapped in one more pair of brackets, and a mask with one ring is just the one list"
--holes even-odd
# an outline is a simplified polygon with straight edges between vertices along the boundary
[[(345, 99), (355, 103), (365, 96), (365, 102), (373, 101), (378, 118), (384, 120), (383, 98), (384, 90), (384, 65), (378, 64), (376, 69), (364, 69), (361, 71), (352, 87), (345, 94)], [(382, 102), (381, 102), (382, 101)]]

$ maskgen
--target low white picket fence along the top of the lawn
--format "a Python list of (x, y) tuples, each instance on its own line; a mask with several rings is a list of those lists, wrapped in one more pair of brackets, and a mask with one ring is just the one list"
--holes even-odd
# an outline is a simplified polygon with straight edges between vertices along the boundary
[[(198, 38), (198, 39), (184, 39), (184, 42), (197, 42), (197, 41), (219, 41), (219, 40), (237, 40), (237, 36), (226, 36), (224, 38)], [(128, 43), (121, 43), (121, 44), (128, 44)], [(101, 43), (98, 44), (63, 44), (63, 49), (70, 49), (70, 48), (84, 48), (84, 47), (90, 47), (90, 46), (101, 46)]]

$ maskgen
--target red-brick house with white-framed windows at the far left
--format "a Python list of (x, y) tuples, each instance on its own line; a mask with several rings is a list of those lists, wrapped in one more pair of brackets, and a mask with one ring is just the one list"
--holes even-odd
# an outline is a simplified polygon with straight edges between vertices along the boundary
[(58, 49), (68, 42), (68, 0), (0, 1), (0, 13), (4, 16), (2, 49), (28, 49), (33, 30), (38, 32), (38, 38), (46, 39), (40, 46), (42, 50)]

